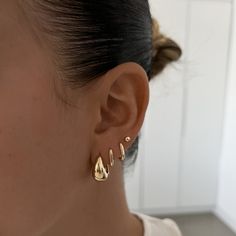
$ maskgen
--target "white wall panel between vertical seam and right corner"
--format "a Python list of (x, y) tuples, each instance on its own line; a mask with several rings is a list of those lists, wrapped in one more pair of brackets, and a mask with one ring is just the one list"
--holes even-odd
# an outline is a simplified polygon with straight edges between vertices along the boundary
[(230, 1), (189, 2), (179, 170), (183, 207), (216, 204), (230, 12)]

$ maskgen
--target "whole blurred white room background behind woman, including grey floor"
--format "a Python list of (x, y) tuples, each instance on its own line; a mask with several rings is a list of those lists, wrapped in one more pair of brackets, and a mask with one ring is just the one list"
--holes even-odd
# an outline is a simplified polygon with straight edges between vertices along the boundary
[(150, 82), (129, 207), (172, 217), (188, 236), (236, 235), (236, 6), (233, 0), (149, 0), (183, 49)]

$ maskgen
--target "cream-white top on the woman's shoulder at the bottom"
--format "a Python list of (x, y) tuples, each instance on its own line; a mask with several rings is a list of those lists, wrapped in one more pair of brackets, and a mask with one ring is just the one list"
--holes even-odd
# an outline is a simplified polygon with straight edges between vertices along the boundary
[(131, 211), (142, 220), (144, 236), (182, 236), (179, 227), (171, 219), (159, 219), (139, 212)]

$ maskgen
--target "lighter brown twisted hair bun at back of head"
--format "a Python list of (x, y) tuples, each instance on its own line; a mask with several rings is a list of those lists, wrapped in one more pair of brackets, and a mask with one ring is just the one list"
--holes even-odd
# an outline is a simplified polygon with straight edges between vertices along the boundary
[(167, 64), (177, 61), (182, 55), (179, 45), (160, 33), (159, 23), (155, 18), (152, 18), (152, 43), (151, 78), (162, 72)]

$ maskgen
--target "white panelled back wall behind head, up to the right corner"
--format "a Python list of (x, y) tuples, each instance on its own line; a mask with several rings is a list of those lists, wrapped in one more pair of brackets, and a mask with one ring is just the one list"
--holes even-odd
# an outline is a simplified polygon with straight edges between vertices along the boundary
[(149, 1), (161, 31), (180, 44), (183, 56), (150, 82), (138, 159), (126, 174), (128, 203), (149, 214), (212, 211), (232, 1)]

